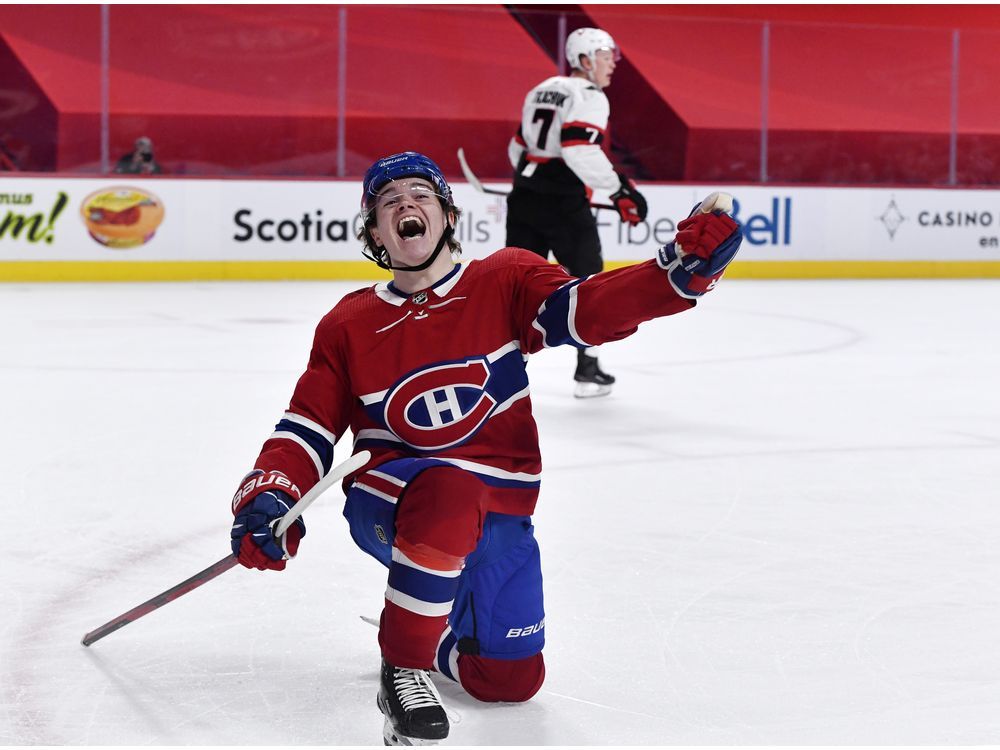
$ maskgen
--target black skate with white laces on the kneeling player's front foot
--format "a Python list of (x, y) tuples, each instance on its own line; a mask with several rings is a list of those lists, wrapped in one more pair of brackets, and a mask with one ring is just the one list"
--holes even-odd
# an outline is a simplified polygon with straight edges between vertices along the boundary
[(378, 707), (385, 714), (386, 745), (436, 745), (448, 736), (441, 696), (422, 669), (400, 669), (383, 659)]

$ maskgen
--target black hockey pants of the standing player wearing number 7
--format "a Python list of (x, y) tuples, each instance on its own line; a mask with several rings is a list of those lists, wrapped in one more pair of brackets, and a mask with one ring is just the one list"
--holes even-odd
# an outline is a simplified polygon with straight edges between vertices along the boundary
[(556, 262), (573, 276), (604, 268), (601, 238), (583, 195), (551, 195), (515, 188), (507, 196), (507, 245), (523, 247)]

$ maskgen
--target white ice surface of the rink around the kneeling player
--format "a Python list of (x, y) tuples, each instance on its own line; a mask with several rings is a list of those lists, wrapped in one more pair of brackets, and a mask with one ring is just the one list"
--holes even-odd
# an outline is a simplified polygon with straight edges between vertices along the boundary
[[(356, 286), (0, 285), (0, 744), (381, 743), (339, 489), (285, 573), (80, 645), (227, 554)], [(548, 678), (440, 681), (449, 744), (1000, 743), (998, 341), (995, 281), (728, 281), (604, 347), (609, 398), (533, 357)]]

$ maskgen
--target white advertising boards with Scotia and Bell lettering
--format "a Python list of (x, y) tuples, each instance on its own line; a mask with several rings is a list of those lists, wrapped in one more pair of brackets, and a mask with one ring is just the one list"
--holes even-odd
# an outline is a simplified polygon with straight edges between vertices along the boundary
[[(488, 187), (507, 189), (491, 183)], [(607, 261), (650, 258), (713, 190), (735, 197), (757, 261), (1000, 262), (1000, 193), (989, 190), (644, 185), (638, 226), (595, 209)], [(464, 256), (504, 245), (502, 196), (453, 184)], [(0, 179), (0, 279), (8, 261), (358, 261), (357, 181)], [(595, 196), (595, 200), (607, 200)], [(553, 221), (557, 221), (553, 217)]]

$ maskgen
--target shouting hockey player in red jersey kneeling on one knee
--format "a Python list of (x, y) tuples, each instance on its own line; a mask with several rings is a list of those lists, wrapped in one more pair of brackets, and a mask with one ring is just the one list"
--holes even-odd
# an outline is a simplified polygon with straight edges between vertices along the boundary
[(740, 245), (728, 196), (682, 221), (656, 259), (568, 276), (525, 250), (460, 261), (460, 210), (433, 161), (406, 152), (364, 178), (359, 239), (392, 281), (319, 323), (288, 410), (233, 498), (233, 553), (281, 570), (305, 535), (279, 519), (330, 471), (348, 431), (372, 458), (344, 515), (388, 568), (378, 707), (386, 744), (448, 736), (436, 671), (483, 701), (526, 701), (545, 677), (542, 574), (531, 515), (541, 481), (526, 361), (690, 310)]

